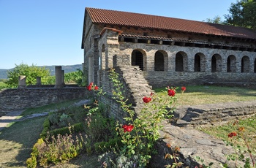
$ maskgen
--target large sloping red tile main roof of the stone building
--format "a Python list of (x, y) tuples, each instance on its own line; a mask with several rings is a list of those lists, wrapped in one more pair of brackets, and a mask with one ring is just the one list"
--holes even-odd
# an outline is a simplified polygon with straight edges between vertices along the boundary
[(87, 7), (86, 11), (93, 23), (256, 39), (256, 31), (237, 26), (90, 7)]

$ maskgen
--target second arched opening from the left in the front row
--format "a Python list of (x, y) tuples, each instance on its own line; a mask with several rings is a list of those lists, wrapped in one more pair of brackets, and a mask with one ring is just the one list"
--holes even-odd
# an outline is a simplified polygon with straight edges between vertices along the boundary
[(155, 71), (167, 71), (168, 56), (164, 50), (158, 50), (154, 54), (154, 70)]

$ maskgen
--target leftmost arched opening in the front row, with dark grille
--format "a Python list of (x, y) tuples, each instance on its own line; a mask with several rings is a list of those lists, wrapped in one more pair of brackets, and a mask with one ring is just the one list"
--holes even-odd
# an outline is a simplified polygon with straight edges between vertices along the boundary
[(132, 66), (139, 66), (142, 71), (146, 69), (146, 53), (144, 50), (132, 50)]

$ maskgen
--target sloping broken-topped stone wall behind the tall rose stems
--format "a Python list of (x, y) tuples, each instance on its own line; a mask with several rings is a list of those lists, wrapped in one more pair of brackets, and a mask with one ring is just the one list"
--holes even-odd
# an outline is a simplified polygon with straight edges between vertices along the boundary
[[(119, 79), (124, 86), (125, 99), (128, 99), (128, 104), (132, 104), (132, 109), (135, 112), (140, 112), (143, 105), (143, 96), (149, 96), (152, 91), (150, 85), (143, 77), (143, 73), (138, 66), (117, 66), (115, 71), (119, 75)], [(113, 83), (108, 78), (108, 70), (101, 70), (99, 76), (101, 83), (99, 83), (105, 92), (104, 96), (101, 96), (101, 101), (104, 104), (108, 104), (108, 111), (110, 117), (116, 118), (118, 121), (123, 121), (126, 117), (126, 113), (121, 110), (120, 104), (113, 99)]]

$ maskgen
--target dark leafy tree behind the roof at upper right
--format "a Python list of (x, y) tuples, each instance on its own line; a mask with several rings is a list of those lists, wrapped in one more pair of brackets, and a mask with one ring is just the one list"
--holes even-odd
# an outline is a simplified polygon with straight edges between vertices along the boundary
[(256, 30), (256, 0), (240, 0), (232, 3), (230, 14), (225, 15), (226, 23)]

